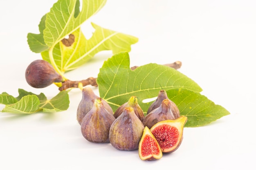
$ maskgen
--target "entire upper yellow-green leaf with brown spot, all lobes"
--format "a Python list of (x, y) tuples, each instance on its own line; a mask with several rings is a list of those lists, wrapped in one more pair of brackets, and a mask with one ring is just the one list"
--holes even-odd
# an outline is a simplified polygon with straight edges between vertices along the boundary
[(89, 61), (99, 51), (130, 51), (131, 44), (138, 41), (136, 37), (101, 28), (93, 23), (95, 32), (90, 39), (85, 39), (80, 29), (81, 24), (96, 14), (106, 4), (106, 0), (82, 2), (80, 11), (80, 0), (58, 0), (50, 12), (42, 17), (40, 33), (27, 35), (29, 48), (33, 52), (40, 52), (42, 58), (51, 63), (62, 76)]

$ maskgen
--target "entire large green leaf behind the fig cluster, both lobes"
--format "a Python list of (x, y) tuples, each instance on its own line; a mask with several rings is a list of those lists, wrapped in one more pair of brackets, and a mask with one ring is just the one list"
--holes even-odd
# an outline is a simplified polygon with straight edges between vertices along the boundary
[(188, 117), (187, 127), (202, 126), (229, 114), (202, 96), (201, 87), (191, 78), (173, 68), (149, 63), (131, 70), (128, 52), (119, 52), (103, 63), (97, 84), (100, 97), (110, 104), (113, 111), (130, 96), (137, 96), (141, 109), (146, 113), (153, 101), (143, 100), (157, 97), (164, 89), (180, 109), (180, 114)]

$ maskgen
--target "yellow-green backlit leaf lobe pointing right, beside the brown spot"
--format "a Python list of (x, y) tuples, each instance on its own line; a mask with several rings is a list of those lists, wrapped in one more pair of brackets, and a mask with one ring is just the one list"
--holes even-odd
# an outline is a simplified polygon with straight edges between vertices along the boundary
[[(131, 35), (126, 35), (116, 31), (102, 28), (92, 23), (95, 32), (87, 40), (78, 28), (70, 36), (74, 38), (72, 45), (66, 46), (60, 41), (53, 51), (54, 61), (61, 72), (74, 70), (89, 61), (97, 52), (112, 50), (113, 54), (121, 51), (130, 51), (131, 44), (135, 44), (138, 39)], [(48, 51), (42, 52), (44, 60), (50, 62)]]

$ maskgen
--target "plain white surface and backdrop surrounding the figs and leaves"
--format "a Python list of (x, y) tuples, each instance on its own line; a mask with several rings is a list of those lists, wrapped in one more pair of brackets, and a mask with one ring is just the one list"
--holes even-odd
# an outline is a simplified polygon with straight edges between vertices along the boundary
[[(0, 1), (0, 93), (18, 96), (18, 88), (43, 92), (47, 98), (58, 93), (54, 85), (34, 89), (25, 81), (27, 65), (41, 58), (29, 50), (27, 33), (39, 33), (40, 19), (54, 2)], [(67, 111), (0, 112), (0, 169), (255, 169), (255, 9), (255, 0), (108, 0), (89, 21), (139, 38), (132, 45), (131, 66), (182, 61), (179, 71), (231, 115), (207, 126), (185, 128), (177, 151), (148, 162), (139, 159), (137, 150), (87, 142), (76, 121), (81, 92), (72, 90)], [(88, 36), (93, 31), (89, 22), (82, 28)], [(111, 56), (101, 52), (66, 76), (96, 77)], [(98, 93), (97, 88), (94, 91)]]

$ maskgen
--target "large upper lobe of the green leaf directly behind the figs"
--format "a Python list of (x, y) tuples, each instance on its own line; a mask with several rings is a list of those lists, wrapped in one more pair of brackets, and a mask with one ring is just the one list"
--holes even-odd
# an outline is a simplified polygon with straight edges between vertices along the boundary
[(161, 89), (185, 88), (201, 92), (200, 86), (179, 71), (165, 65), (146, 64), (130, 70), (128, 52), (119, 52), (104, 62), (97, 77), (99, 93), (115, 111), (131, 96), (139, 98), (139, 105), (146, 113), (149, 102), (144, 99), (156, 97)]

